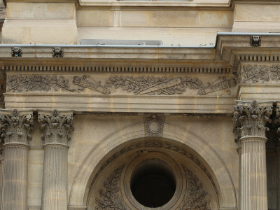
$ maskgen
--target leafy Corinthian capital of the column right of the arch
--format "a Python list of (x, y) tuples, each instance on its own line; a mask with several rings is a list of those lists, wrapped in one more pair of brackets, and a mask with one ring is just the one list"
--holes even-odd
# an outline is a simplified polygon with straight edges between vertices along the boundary
[(234, 130), (239, 137), (265, 137), (265, 131), (269, 130), (265, 125), (272, 121), (269, 119), (272, 106), (258, 106), (258, 102), (253, 101), (251, 104), (238, 104), (234, 109)]

